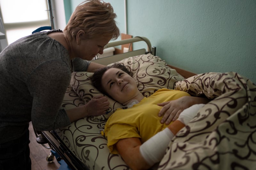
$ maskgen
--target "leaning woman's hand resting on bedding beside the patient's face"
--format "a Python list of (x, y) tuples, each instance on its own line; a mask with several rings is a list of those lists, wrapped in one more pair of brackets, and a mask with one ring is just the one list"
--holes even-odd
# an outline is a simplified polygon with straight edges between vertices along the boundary
[(88, 116), (99, 116), (107, 112), (109, 108), (108, 98), (106, 96), (93, 97), (85, 105)]

